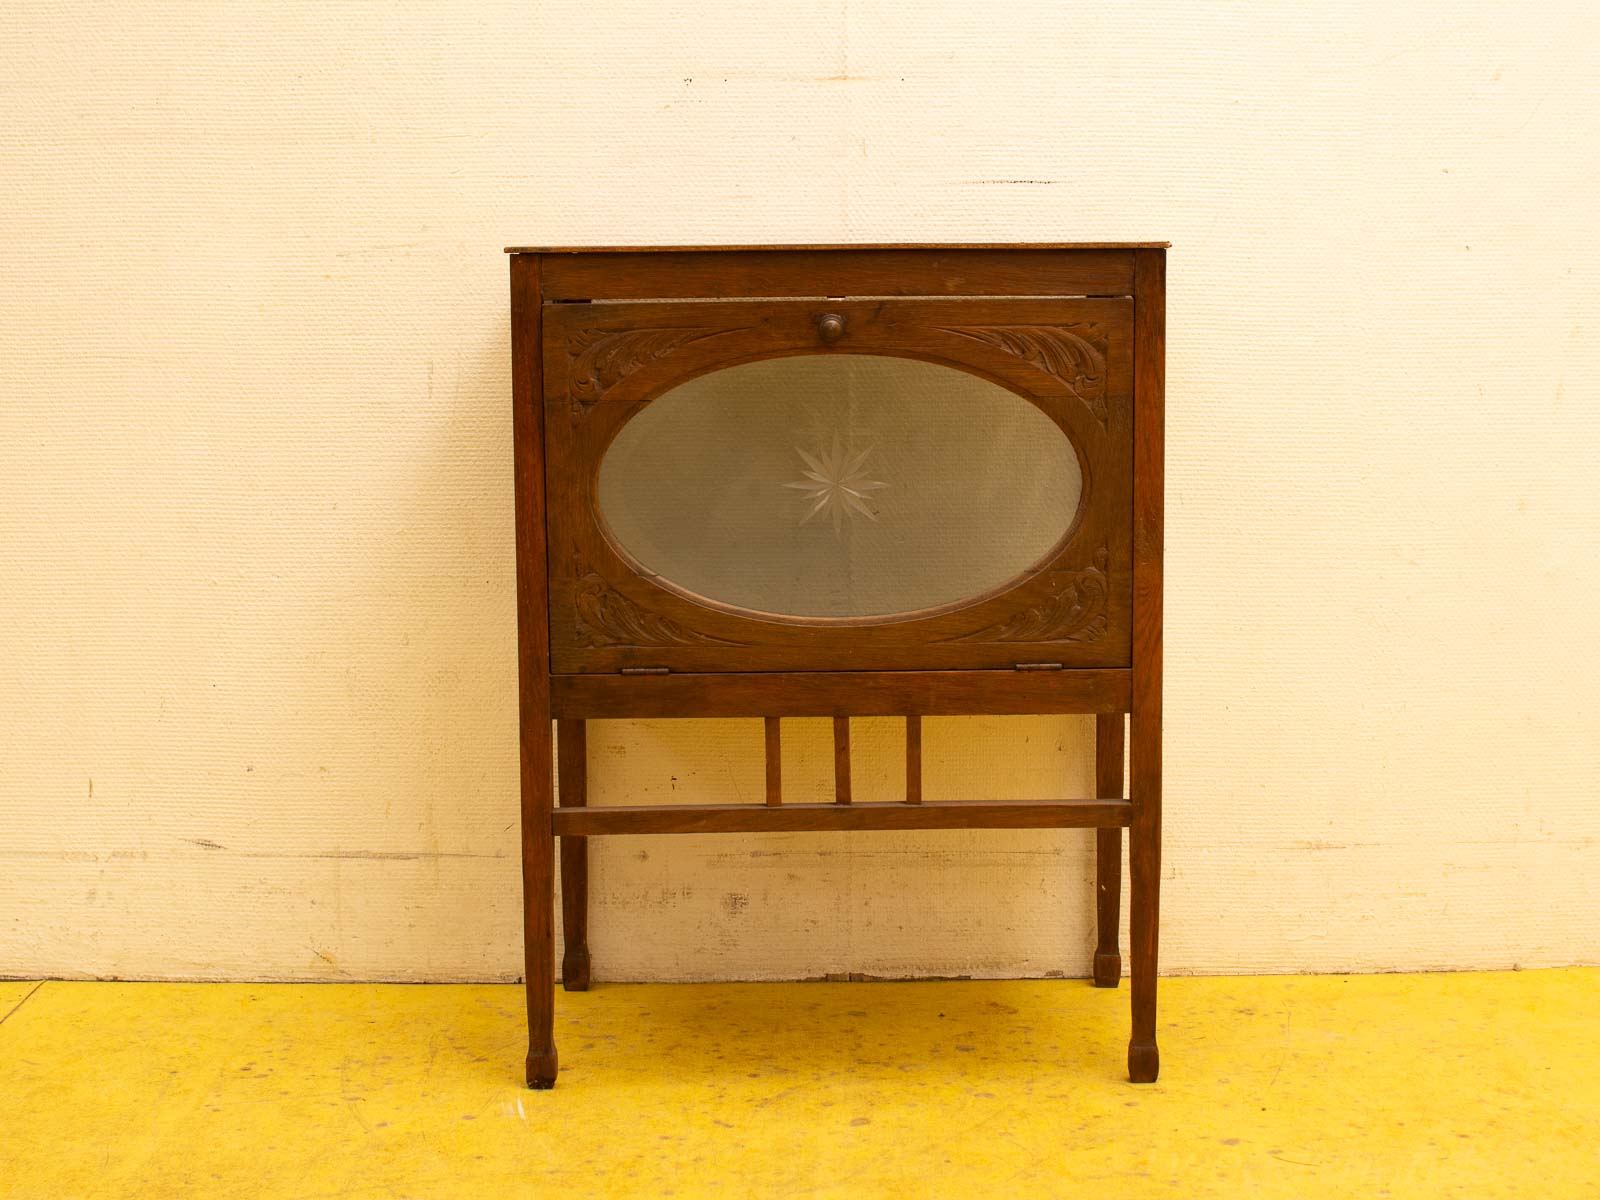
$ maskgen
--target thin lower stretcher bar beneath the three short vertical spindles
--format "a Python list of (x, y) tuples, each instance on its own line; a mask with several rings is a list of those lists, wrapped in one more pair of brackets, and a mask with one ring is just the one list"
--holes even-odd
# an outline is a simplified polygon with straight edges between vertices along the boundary
[(928, 800), (920, 805), (605, 805), (562, 808), (562, 837), (616, 834), (794, 834), (824, 829), (1085, 829), (1125, 826), (1126, 800)]

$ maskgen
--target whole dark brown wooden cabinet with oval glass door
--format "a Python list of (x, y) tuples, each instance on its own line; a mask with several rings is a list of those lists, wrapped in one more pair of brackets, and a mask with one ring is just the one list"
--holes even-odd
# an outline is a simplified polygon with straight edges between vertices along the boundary
[[(530, 1085), (557, 838), (576, 990), (590, 835), (1058, 826), (1099, 830), (1099, 986), (1131, 830), (1155, 1078), (1165, 248), (510, 253)], [(1098, 795), (925, 802), (920, 718), (992, 712), (1098, 714)], [(851, 803), (850, 717), (885, 714), (906, 800)], [(587, 808), (584, 720), (710, 715), (766, 718), (765, 805)], [(832, 805), (782, 802), (797, 715), (835, 718)]]

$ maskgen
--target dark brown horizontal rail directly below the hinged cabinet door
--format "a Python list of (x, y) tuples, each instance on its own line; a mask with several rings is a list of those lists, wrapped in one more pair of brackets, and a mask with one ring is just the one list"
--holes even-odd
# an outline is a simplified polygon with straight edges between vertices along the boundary
[(814, 670), (555, 675), (557, 717), (962, 717), (1125, 712), (1126, 670)]

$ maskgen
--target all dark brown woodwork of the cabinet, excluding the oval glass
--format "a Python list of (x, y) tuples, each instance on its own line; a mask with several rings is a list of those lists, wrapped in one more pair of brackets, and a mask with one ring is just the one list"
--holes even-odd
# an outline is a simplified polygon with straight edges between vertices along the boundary
[[(562, 976), (576, 990), (589, 974), (584, 838), (872, 829), (1094, 827), (1094, 979), (1115, 986), (1120, 830), (1128, 827), (1128, 1072), (1136, 1082), (1157, 1077), (1163, 246), (514, 251), (531, 1086), (550, 1086), (557, 1074), (557, 835)], [(1022, 395), (1078, 451), (1085, 501), (1077, 522), (1034, 571), (893, 621), (750, 613), (651, 576), (613, 546), (595, 510), (610, 440), (685, 379), (786, 354), (923, 358)], [(922, 717), (1059, 712), (1098, 717), (1096, 797), (923, 800)], [(1123, 714), (1131, 715), (1126, 738)], [(765, 717), (766, 803), (586, 805), (584, 720), (752, 715)], [(848, 718), (858, 715), (906, 717), (907, 803), (851, 803)], [(560, 808), (552, 717), (562, 722)], [(834, 718), (835, 803), (782, 803), (782, 717)]]

